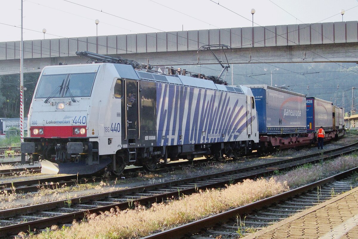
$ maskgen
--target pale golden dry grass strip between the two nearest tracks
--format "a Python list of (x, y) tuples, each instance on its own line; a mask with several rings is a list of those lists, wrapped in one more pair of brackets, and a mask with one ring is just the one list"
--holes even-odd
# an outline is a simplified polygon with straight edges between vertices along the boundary
[[(248, 190), (250, 189), (250, 190)], [(47, 231), (36, 238), (137, 238), (153, 231), (165, 230), (205, 216), (251, 203), (288, 190), (285, 183), (274, 179), (245, 180), (224, 190), (206, 190), (150, 208), (107, 211), (89, 215), (88, 223), (75, 223), (71, 228)]]

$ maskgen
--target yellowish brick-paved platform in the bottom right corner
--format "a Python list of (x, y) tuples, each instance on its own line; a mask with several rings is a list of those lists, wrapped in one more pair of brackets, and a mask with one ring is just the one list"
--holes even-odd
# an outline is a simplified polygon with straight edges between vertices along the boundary
[(358, 238), (358, 188), (245, 236), (253, 238)]

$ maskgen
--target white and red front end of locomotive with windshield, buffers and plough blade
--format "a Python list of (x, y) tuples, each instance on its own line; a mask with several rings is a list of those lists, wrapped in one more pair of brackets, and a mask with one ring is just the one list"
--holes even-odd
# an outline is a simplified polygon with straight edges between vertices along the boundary
[(41, 161), (43, 173), (93, 173), (109, 163), (99, 160), (98, 142), (93, 141), (98, 127), (89, 118), (99, 66), (43, 69), (30, 106), (29, 137), (21, 143), (21, 153)]

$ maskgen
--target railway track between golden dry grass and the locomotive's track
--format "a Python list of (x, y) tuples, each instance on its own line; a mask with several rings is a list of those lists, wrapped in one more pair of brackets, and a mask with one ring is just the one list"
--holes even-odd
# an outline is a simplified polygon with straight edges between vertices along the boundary
[[(349, 154), (358, 150), (358, 143), (334, 150), (327, 150), (324, 155), (314, 153), (297, 158), (285, 159), (275, 163), (251, 166), (220, 173), (185, 178), (153, 185), (111, 191), (89, 196), (58, 200), (38, 205), (24, 206), (0, 211), (0, 236), (18, 234), (34, 228), (40, 229), (58, 223), (82, 219), (86, 214), (99, 213), (118, 207), (127, 209), (139, 203), (147, 205), (167, 198), (188, 195), (200, 189), (219, 188), (228, 183), (235, 183), (247, 178), (267, 176), (275, 170), (284, 171), (306, 163), (317, 163)], [(267, 203), (266, 203), (267, 204)], [(24, 220), (26, 218), (26, 220)]]

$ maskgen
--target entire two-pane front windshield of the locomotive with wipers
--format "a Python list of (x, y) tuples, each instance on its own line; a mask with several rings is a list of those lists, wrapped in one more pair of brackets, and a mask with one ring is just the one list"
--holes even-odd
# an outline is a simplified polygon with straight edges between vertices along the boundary
[[(43, 75), (36, 98), (91, 96), (96, 73)], [(63, 84), (63, 85), (62, 85)]]

